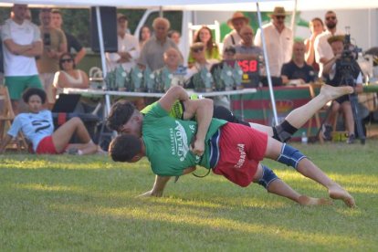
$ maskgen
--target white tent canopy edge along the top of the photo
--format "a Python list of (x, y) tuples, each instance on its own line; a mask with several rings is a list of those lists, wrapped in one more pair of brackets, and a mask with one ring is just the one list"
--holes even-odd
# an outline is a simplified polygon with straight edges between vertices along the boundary
[[(148, 8), (162, 6), (163, 9), (174, 10), (211, 10), (211, 11), (256, 11), (257, 0), (144, 0), (144, 1), (127, 1), (127, 0), (5, 0), (4, 5), (27, 4), (30, 6), (41, 5), (58, 5), (69, 7), (88, 7), (88, 6), (117, 6), (128, 8)], [(282, 5), (287, 10), (294, 9), (294, 0), (260, 0), (261, 11), (271, 11), (275, 5)], [(297, 8), (300, 11), (320, 10), (320, 9), (367, 9), (378, 8), (376, 0), (298, 0)]]

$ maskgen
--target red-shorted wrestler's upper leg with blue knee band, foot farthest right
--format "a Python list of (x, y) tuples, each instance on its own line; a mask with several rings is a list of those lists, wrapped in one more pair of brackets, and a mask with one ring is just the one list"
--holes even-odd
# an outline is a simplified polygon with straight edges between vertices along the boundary
[(331, 198), (341, 199), (350, 207), (355, 205), (352, 195), (345, 191), (341, 185), (332, 181), (330, 177), (323, 173), (320, 168), (312, 163), (306, 156), (286, 143), (268, 138), (265, 157), (276, 160), (279, 163), (290, 165), (304, 176), (322, 184), (328, 189)]

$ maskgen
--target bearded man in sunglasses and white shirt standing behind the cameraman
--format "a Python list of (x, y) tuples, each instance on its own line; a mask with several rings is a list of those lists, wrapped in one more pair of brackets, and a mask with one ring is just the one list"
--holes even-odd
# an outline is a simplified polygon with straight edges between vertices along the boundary
[(333, 52), (327, 39), (332, 36), (343, 35), (336, 30), (337, 16), (333, 11), (328, 11), (324, 17), (324, 23), (327, 27), (323, 33), (315, 39), (315, 60), (319, 64), (319, 77), (323, 75), (324, 64), (326, 64), (331, 58), (333, 58)]

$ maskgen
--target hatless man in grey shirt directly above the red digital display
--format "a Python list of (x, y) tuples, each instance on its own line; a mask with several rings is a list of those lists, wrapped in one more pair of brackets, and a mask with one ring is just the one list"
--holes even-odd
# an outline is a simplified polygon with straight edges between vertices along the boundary
[(241, 41), (235, 46), (236, 59), (259, 59), (263, 55), (261, 47), (256, 47), (253, 44), (253, 29), (251, 26), (244, 26), (240, 29)]

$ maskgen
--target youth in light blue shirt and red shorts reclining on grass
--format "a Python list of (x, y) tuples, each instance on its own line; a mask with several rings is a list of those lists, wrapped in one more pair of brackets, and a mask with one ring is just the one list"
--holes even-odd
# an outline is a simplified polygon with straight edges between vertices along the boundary
[[(79, 118), (72, 118), (54, 131), (51, 111), (44, 110), (43, 104), (47, 97), (43, 89), (26, 89), (23, 100), (29, 112), (16, 116), (12, 126), (0, 145), (0, 153), (5, 152), (6, 145), (15, 138), (18, 131), (23, 131), (26, 139), (32, 143), (37, 154), (91, 154), (98, 152), (99, 147), (92, 142), (89, 132)], [(83, 143), (70, 144), (71, 137), (76, 134)]]

